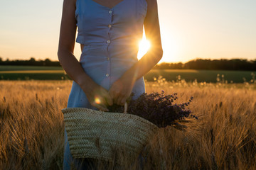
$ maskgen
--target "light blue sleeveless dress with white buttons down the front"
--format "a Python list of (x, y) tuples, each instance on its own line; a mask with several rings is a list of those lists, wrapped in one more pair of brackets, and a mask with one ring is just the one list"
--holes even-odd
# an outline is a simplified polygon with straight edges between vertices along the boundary
[[(93, 0), (76, 1), (76, 42), (84, 45), (80, 64), (86, 74), (105, 89), (109, 90), (114, 81), (138, 62), (138, 43), (142, 39), (146, 11), (146, 0), (123, 0), (113, 8), (102, 6)], [(132, 92), (133, 98), (145, 92), (143, 77), (135, 82)], [(80, 86), (73, 81), (67, 108), (75, 107), (96, 109), (90, 105)], [(80, 162), (70, 154), (65, 130), (63, 169), (70, 169), (72, 161)], [(86, 169), (87, 165), (82, 166)]]

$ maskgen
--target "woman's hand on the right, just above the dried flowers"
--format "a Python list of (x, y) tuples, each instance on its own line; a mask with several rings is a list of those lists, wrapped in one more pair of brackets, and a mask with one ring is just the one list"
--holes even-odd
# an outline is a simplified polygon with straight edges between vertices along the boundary
[(127, 98), (132, 94), (134, 82), (134, 77), (121, 77), (117, 79), (117, 81), (112, 84), (109, 91), (113, 103), (124, 106)]

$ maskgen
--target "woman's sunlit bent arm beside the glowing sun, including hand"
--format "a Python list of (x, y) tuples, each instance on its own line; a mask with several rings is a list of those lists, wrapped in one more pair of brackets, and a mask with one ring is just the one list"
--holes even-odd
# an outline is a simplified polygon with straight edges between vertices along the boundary
[(131, 95), (135, 81), (149, 72), (163, 56), (157, 2), (156, 0), (147, 0), (147, 4), (144, 28), (146, 39), (151, 42), (151, 48), (139, 62), (134, 64), (120, 79), (112, 84), (109, 93), (114, 103), (119, 105), (124, 105), (127, 98)]

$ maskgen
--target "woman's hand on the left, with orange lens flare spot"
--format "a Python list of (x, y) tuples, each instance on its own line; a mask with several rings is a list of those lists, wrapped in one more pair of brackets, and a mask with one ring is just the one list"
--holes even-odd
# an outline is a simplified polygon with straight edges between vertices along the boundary
[(90, 104), (100, 111), (108, 111), (107, 106), (112, 106), (112, 98), (108, 91), (94, 81), (87, 84), (83, 83), (80, 87), (85, 92)]

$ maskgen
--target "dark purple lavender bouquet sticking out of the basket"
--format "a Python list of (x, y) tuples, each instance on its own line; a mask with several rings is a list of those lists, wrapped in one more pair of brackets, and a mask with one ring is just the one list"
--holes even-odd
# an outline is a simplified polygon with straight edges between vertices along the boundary
[[(131, 97), (130, 97), (131, 98)], [(186, 107), (191, 103), (193, 97), (186, 103), (176, 104), (177, 94), (164, 95), (164, 91), (152, 94), (142, 94), (136, 100), (129, 100), (127, 113), (138, 115), (159, 128), (165, 128), (168, 125), (176, 124), (176, 120), (182, 120), (191, 115), (191, 111)], [(124, 106), (112, 105), (108, 107), (110, 112), (123, 113)]]

